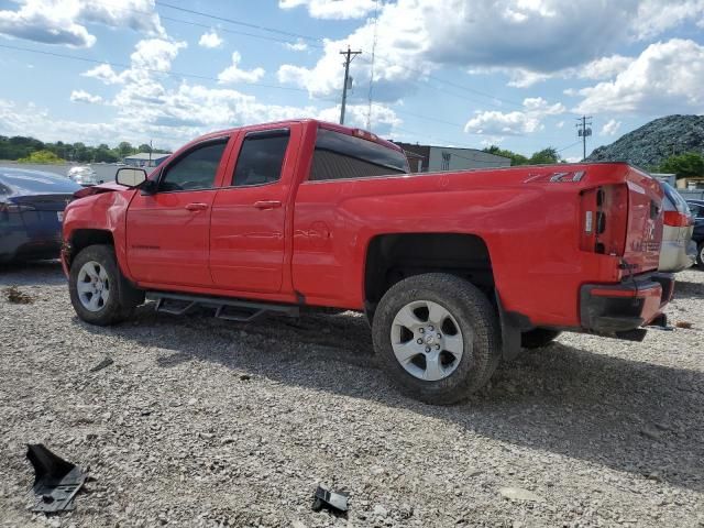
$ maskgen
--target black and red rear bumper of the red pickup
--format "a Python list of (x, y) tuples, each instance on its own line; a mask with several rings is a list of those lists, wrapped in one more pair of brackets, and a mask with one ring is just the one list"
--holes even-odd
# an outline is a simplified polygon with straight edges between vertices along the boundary
[(673, 290), (670, 273), (638, 275), (619, 284), (585, 284), (580, 292), (582, 328), (597, 333), (635, 330), (662, 314)]

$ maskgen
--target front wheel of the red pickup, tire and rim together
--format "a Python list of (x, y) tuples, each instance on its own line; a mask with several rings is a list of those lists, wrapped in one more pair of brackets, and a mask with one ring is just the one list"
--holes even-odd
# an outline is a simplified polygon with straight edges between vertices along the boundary
[(91, 324), (120, 322), (133, 307), (120, 302), (120, 270), (109, 245), (89, 245), (76, 255), (70, 266), (68, 290), (80, 319)]

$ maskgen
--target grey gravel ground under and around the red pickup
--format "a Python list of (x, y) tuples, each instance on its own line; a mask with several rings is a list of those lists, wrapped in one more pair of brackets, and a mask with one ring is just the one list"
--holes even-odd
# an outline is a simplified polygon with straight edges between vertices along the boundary
[[(704, 526), (704, 273), (679, 279), (692, 329), (563, 336), (438, 408), (389, 387), (353, 314), (101, 329), (57, 264), (4, 268), (33, 302), (0, 299), (0, 525)], [(28, 442), (89, 466), (75, 512), (28, 510)], [(310, 509), (319, 482), (346, 518)]]

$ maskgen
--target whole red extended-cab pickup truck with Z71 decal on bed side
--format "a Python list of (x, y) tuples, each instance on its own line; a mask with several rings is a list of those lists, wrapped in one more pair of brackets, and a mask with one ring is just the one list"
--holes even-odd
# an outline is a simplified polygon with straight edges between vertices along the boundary
[(622, 163), (408, 174), (404, 152), (315, 120), (199, 138), (147, 177), (82, 189), (62, 262), (78, 316), (206, 306), (249, 321), (363, 310), (407, 394), (465, 398), (561, 331), (666, 324), (662, 191)]

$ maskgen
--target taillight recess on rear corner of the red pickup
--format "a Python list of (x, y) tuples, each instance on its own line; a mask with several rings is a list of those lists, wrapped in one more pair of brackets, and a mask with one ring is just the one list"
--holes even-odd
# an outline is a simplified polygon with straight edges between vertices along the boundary
[(628, 226), (628, 187), (605, 185), (581, 194), (580, 249), (623, 256)]

